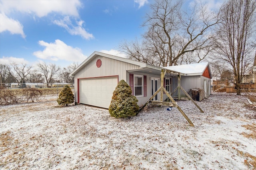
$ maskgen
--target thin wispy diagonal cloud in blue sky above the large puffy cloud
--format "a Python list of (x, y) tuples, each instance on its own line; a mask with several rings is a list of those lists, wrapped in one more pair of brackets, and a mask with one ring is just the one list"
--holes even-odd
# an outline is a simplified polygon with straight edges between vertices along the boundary
[(56, 25), (59, 25), (60, 27), (64, 27), (68, 33), (71, 35), (80, 35), (84, 39), (93, 39), (93, 35), (91, 33), (88, 33), (83, 27), (84, 21), (76, 21), (77, 26), (74, 26), (72, 21), (68, 16), (66, 16), (63, 20), (54, 20), (53, 23)]

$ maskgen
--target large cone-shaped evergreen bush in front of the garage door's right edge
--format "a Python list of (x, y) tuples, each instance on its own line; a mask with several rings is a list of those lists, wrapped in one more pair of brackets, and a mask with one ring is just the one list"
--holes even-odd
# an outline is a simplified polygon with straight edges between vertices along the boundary
[(112, 117), (116, 118), (135, 116), (139, 110), (137, 102), (137, 98), (132, 96), (130, 86), (124, 80), (121, 80), (113, 92), (108, 111)]

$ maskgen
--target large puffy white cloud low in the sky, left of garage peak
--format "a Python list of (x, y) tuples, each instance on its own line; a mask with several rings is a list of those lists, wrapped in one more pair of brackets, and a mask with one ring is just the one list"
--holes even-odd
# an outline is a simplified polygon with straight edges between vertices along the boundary
[(85, 55), (83, 55), (81, 49), (66, 45), (59, 39), (56, 39), (54, 43), (46, 43), (44, 41), (39, 41), (38, 43), (39, 45), (45, 47), (44, 51), (36, 51), (33, 53), (33, 55), (40, 59), (82, 62), (87, 58)]

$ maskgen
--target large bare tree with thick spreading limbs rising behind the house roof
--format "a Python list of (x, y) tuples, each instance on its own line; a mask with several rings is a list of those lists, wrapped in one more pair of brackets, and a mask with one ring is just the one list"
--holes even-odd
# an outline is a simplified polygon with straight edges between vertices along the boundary
[[(148, 31), (143, 35), (141, 50), (138, 50), (138, 54), (130, 55), (131, 49), (134, 49), (132, 43), (120, 45), (121, 51), (135, 60), (141, 54), (150, 54), (160, 66), (172, 66), (189, 60), (192, 62), (186, 54), (194, 51), (202, 53), (209, 49), (213, 38), (210, 29), (219, 19), (203, 4), (194, 4), (190, 11), (183, 11), (183, 5), (182, 1), (156, 0), (150, 5), (151, 13), (146, 15), (146, 21), (142, 24)], [(196, 62), (198, 60), (202, 58)]]

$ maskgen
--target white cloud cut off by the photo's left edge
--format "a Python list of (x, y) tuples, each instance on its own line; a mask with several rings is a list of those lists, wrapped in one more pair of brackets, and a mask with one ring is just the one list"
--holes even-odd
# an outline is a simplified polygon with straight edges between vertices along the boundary
[(4, 31), (20, 34), (23, 38), (26, 37), (23, 32), (23, 25), (19, 21), (8, 18), (5, 14), (0, 13), (0, 33)]

